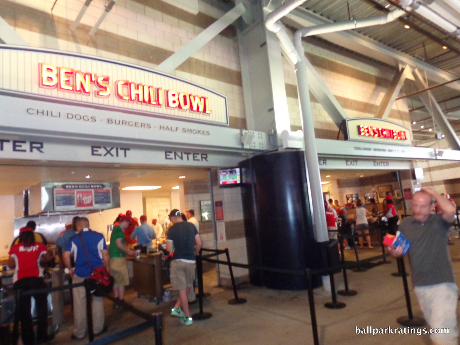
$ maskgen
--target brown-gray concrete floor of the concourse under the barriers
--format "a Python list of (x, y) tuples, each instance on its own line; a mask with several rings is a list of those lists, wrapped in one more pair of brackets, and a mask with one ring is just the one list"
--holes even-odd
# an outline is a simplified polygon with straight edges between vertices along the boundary
[[(460, 240), (449, 246), (454, 272), (457, 281), (460, 275)], [(381, 253), (380, 247), (359, 251), (360, 258)], [(353, 251), (346, 251), (347, 259), (354, 258)], [(341, 310), (326, 309), (324, 303), (331, 301), (330, 293), (322, 288), (314, 292), (316, 317), (320, 343), (322, 345), (368, 345), (368, 344), (431, 344), (427, 335), (414, 334), (355, 334), (355, 328), (399, 328), (396, 319), (407, 316), (402, 278), (391, 276), (397, 271), (396, 261), (391, 264), (379, 265), (366, 272), (348, 271), (350, 288), (357, 290), (354, 297), (338, 296), (345, 302)], [(407, 262), (407, 260), (406, 260)], [(408, 269), (408, 264), (406, 265)], [(335, 275), (338, 288), (343, 288), (341, 274)], [(164, 313), (164, 344), (165, 345), (281, 345), (281, 344), (313, 344), (308, 296), (305, 291), (276, 291), (256, 288), (250, 285), (239, 288), (240, 297), (246, 298), (243, 305), (229, 305), (228, 299), (233, 298), (230, 290), (217, 288), (215, 270), (206, 273), (205, 291), (211, 296), (205, 299), (204, 311), (213, 313), (213, 317), (204, 321), (195, 321), (192, 326), (179, 324), (178, 319), (170, 317), (169, 311), (173, 301), (156, 306), (147, 299), (137, 298), (137, 293), (128, 289), (127, 301), (137, 308), (146, 311), (162, 311)], [(409, 288), (415, 316), (422, 316), (409, 277)], [(129, 312), (114, 311), (108, 301), (106, 308), (106, 324), (108, 334), (142, 322)], [(192, 313), (198, 311), (198, 305), (190, 305)], [(70, 341), (72, 332), (72, 315), (66, 312), (66, 322), (52, 344), (75, 345), (86, 344), (87, 339)], [(98, 337), (101, 338), (102, 336)], [(153, 330), (147, 329), (129, 338), (118, 341), (124, 345), (155, 344)]]

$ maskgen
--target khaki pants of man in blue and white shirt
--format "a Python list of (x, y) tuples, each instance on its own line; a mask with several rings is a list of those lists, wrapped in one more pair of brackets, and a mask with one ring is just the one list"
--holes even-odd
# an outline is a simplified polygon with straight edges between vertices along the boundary
[[(84, 278), (74, 276), (73, 283), (78, 284), (84, 281)], [(74, 335), (77, 338), (83, 338), (86, 334), (86, 293), (85, 287), (72, 289), (74, 294)], [(92, 296), (92, 325), (94, 334), (102, 331), (104, 328), (104, 304), (103, 297)]]

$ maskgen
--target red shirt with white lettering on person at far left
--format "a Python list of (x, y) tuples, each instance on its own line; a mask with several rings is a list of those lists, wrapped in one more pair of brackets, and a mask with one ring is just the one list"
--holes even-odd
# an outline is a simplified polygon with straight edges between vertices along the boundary
[(40, 258), (46, 253), (46, 246), (40, 242), (35, 242), (32, 247), (24, 247), (22, 242), (11, 246), (8, 254), (16, 263), (13, 282), (25, 277), (43, 276), (43, 271), (40, 270)]

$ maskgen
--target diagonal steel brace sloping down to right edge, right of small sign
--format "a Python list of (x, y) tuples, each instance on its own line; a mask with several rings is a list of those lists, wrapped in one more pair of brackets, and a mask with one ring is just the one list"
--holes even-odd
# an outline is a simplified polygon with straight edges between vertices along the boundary
[[(420, 74), (418, 69), (415, 69), (412, 74), (415, 77), (415, 85), (419, 89), (426, 89), (428, 85), (426, 81)], [(441, 129), (441, 132), (445, 135), (447, 142), (452, 150), (460, 150), (460, 140), (457, 134), (455, 134), (454, 128), (450, 125), (449, 121), (444, 115), (443, 110), (439, 106), (434, 98), (431, 91), (422, 92), (419, 94), (420, 100), (422, 101), (423, 105), (425, 105), (428, 112), (433, 116), (434, 120), (436, 121), (437, 126)], [(434, 133), (433, 133), (434, 134)]]

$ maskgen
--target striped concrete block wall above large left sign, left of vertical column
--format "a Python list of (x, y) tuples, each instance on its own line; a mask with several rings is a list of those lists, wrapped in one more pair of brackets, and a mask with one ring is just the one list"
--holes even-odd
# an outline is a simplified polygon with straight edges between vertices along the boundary
[[(104, 11), (93, 0), (75, 33), (70, 25), (84, 0), (0, 0), (0, 16), (30, 45), (133, 63), (154, 69), (224, 13), (199, 2), (194, 16), (161, 0), (119, 0), (99, 27)], [(173, 74), (228, 97), (230, 126), (246, 128), (236, 29), (229, 27), (185, 61)]]

